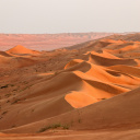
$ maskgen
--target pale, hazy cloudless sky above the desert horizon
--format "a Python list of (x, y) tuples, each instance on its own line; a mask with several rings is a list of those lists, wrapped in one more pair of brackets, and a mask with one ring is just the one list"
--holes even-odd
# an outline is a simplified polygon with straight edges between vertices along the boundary
[(0, 0), (0, 33), (140, 32), (140, 0)]

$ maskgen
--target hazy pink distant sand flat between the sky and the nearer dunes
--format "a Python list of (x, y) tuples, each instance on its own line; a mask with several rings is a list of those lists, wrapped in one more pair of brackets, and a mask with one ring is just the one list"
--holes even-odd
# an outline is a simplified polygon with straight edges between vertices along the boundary
[(52, 50), (108, 35), (112, 33), (0, 34), (0, 50), (7, 50), (16, 45), (35, 50)]

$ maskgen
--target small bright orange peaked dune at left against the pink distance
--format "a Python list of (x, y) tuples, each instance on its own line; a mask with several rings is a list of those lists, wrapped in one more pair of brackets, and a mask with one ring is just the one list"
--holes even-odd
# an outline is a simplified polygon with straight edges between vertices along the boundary
[(14, 55), (38, 55), (39, 54), (39, 51), (25, 48), (21, 45), (18, 45), (18, 46), (7, 50), (7, 52), (14, 54)]

